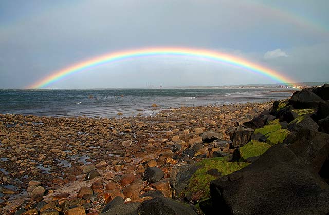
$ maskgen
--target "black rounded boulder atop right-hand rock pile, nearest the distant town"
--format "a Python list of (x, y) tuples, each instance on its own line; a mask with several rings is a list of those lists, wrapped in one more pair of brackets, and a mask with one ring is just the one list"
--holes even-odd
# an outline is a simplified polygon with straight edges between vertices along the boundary
[(310, 89), (302, 89), (291, 96), (290, 103), (294, 108), (317, 108), (321, 102), (321, 97), (313, 93)]

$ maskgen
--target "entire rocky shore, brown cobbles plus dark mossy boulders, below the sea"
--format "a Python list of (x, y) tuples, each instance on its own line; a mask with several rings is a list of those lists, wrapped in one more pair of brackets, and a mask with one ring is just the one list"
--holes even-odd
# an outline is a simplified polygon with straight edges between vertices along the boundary
[(328, 89), (154, 117), (0, 115), (0, 213), (326, 214)]

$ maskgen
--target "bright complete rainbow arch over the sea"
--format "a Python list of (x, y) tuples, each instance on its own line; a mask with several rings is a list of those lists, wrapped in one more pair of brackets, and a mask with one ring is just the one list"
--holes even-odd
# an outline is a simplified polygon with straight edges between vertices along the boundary
[(278, 83), (294, 83), (293, 80), (280, 74), (279, 72), (263, 67), (259, 64), (252, 63), (243, 58), (235, 57), (226, 53), (210, 51), (204, 49), (192, 49), (192, 48), (145, 48), (137, 50), (119, 51), (114, 53), (105, 54), (99, 57), (95, 57), (75, 65), (69, 66), (62, 70), (53, 72), (44, 79), (32, 84), (28, 88), (44, 88), (50, 84), (57, 82), (68, 75), (78, 73), (90, 67), (95, 67), (105, 63), (116, 62), (121, 60), (133, 59), (138, 57), (151, 57), (151, 56), (186, 56), (197, 57), (206, 60), (212, 60), (216, 62), (226, 63), (232, 66), (237, 66), (242, 69), (246, 69), (264, 76), (269, 77)]

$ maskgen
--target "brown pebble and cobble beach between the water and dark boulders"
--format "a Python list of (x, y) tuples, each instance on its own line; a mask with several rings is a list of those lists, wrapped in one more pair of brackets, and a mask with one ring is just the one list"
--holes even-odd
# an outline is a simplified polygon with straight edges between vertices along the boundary
[[(175, 142), (173, 136), (179, 137), (183, 148), (189, 147), (189, 141), (198, 136), (196, 130), (199, 129), (222, 133), (223, 139), (229, 140), (232, 129), (271, 105), (265, 102), (181, 107), (161, 110), (156, 116), (111, 119), (0, 115), (3, 161), (0, 179), (4, 188), (14, 192), (1, 197), (2, 212), (10, 212), (29, 199), (28, 185), (34, 180), (40, 181), (49, 193), (45, 200), (63, 189), (75, 196), (78, 188), (86, 186), (84, 177), (88, 166), (94, 165), (101, 174), (95, 180), (103, 184), (114, 182), (118, 175), (132, 173), (142, 180), (150, 161), (156, 161), (156, 166), (164, 170), (168, 178), (171, 168), (180, 162), (173, 159), (170, 150)], [(126, 141), (128, 145), (122, 145)], [(226, 152), (233, 151), (227, 149)], [(95, 180), (87, 184), (90, 186)], [(148, 190), (145, 187), (141, 193)], [(21, 199), (11, 200), (15, 196)], [(102, 206), (104, 200), (93, 208), (96, 211)]]

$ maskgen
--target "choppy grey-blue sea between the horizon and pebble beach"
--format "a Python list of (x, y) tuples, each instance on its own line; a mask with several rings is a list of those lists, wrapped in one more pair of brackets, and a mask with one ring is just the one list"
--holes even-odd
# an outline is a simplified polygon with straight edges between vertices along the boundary
[[(154, 115), (160, 109), (265, 102), (290, 97), (279, 89), (40, 89), (0, 90), (1, 114), (38, 116)], [(155, 103), (159, 107), (152, 108)]]

